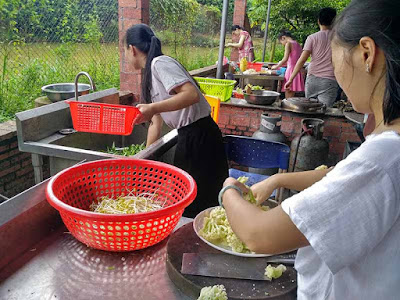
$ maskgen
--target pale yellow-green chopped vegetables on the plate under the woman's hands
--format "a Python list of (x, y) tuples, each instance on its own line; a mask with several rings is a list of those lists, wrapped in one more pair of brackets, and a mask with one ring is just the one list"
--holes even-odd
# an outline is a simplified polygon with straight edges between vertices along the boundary
[[(248, 177), (239, 177), (238, 181), (246, 183)], [(244, 198), (250, 203), (255, 204), (256, 200), (253, 193), (249, 190), (249, 193), (243, 195)], [(263, 210), (268, 210), (268, 206), (260, 207)], [(221, 244), (229, 246), (232, 251), (238, 253), (251, 253), (246, 245), (237, 237), (233, 232), (228, 218), (226, 216), (225, 209), (223, 207), (216, 207), (211, 210), (210, 215), (204, 217), (203, 228), (200, 230), (200, 235), (207, 241), (214, 244)]]

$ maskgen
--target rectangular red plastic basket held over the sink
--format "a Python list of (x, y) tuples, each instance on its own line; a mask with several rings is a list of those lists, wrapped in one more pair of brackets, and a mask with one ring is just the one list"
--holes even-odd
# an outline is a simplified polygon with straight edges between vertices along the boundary
[(68, 100), (76, 131), (129, 135), (140, 115), (138, 108), (127, 105)]

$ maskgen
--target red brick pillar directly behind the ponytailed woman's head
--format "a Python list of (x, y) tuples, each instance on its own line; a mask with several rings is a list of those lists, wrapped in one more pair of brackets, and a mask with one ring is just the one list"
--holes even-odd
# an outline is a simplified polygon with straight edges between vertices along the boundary
[(135, 71), (125, 62), (124, 36), (135, 24), (149, 24), (149, 0), (118, 0), (120, 90), (140, 95), (141, 72)]

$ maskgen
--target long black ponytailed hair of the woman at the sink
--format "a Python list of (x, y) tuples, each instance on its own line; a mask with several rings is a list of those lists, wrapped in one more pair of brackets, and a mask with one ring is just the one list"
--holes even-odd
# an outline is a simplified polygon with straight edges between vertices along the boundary
[(135, 46), (141, 52), (147, 55), (146, 65), (142, 72), (142, 101), (151, 102), (151, 62), (155, 57), (163, 55), (161, 51), (161, 42), (154, 34), (153, 30), (146, 24), (133, 25), (126, 31), (125, 44)]

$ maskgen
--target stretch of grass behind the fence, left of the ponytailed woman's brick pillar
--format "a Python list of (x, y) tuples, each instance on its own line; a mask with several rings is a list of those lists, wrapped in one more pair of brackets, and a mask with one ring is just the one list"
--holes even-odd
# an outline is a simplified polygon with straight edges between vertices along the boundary
[(42, 95), (42, 86), (73, 82), (80, 71), (93, 77), (98, 90), (119, 87), (118, 53), (115, 44), (101, 48), (46, 44), (3, 47), (6, 63), (0, 69), (0, 122), (33, 108), (34, 100)]

